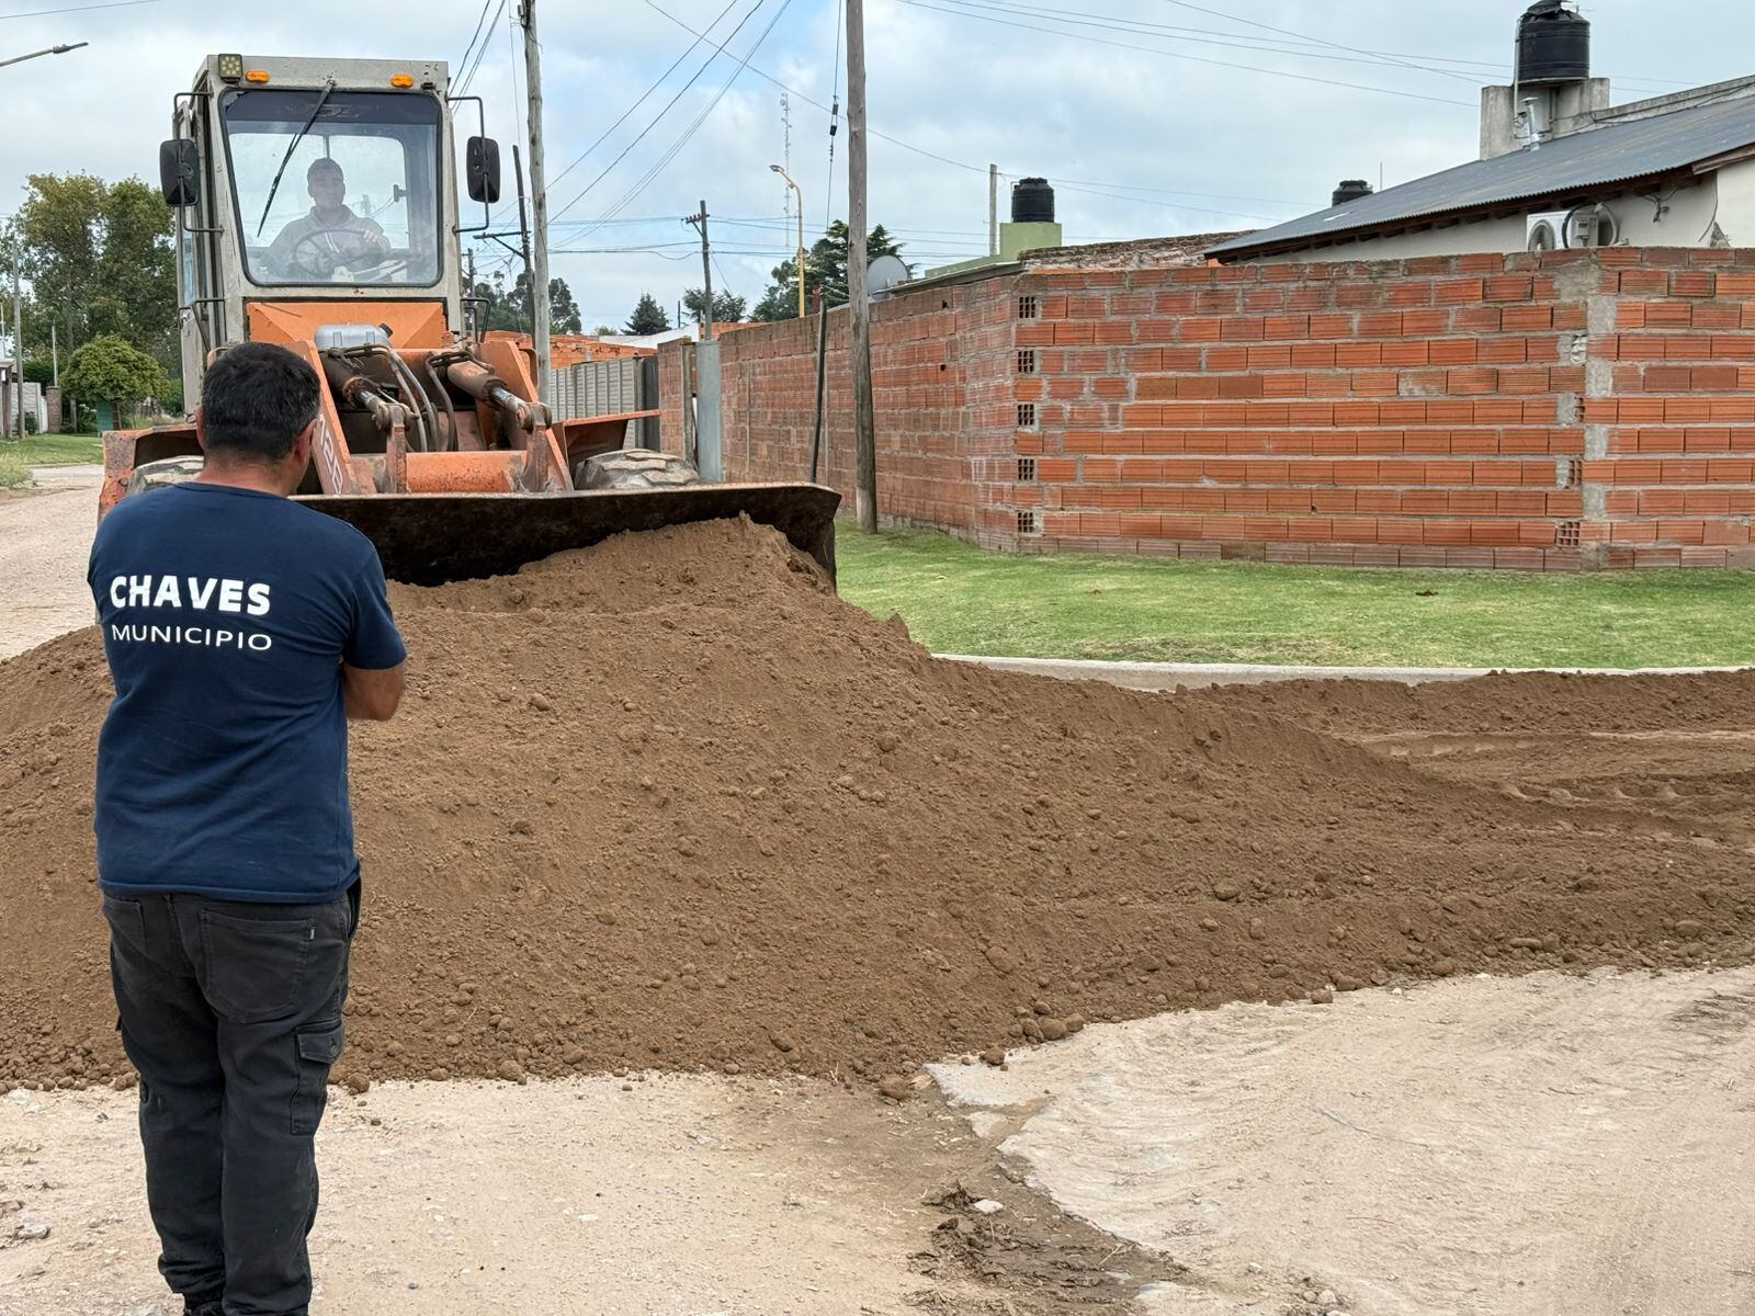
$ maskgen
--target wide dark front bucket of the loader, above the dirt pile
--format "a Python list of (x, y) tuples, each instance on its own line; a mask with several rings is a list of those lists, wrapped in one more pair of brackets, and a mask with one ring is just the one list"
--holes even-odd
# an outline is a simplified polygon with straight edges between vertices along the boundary
[(507, 576), (526, 561), (628, 530), (737, 516), (779, 530), (834, 581), (841, 495), (820, 484), (688, 484), (576, 493), (311, 495), (298, 502), (360, 530), (377, 546), (384, 576), (407, 584)]

